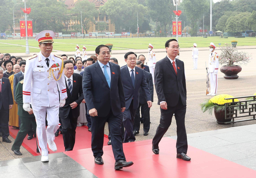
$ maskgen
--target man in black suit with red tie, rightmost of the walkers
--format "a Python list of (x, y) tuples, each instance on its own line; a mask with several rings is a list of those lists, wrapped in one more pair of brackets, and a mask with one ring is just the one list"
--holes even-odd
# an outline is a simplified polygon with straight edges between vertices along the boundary
[(186, 114), (186, 79), (184, 63), (175, 57), (179, 52), (177, 40), (165, 43), (167, 56), (155, 64), (155, 90), (160, 105), (160, 124), (152, 141), (152, 151), (159, 154), (158, 144), (171, 125), (175, 114), (177, 124), (177, 158), (189, 161), (187, 154), (187, 135), (185, 128)]

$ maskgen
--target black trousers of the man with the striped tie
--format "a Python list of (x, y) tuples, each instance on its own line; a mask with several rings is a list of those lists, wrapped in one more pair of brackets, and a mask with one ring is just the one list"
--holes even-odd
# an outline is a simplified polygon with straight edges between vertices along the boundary
[(72, 109), (69, 111), (67, 118), (60, 118), (62, 124), (62, 136), (65, 151), (71, 151), (74, 148), (76, 140), (77, 117), (73, 117)]

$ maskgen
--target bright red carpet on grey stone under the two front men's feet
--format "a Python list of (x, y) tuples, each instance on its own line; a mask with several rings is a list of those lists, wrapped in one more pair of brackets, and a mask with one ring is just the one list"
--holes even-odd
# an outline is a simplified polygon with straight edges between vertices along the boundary
[(152, 152), (152, 140), (123, 144), (126, 160), (134, 165), (114, 171), (111, 146), (103, 148), (104, 165), (94, 163), (90, 148), (64, 152), (99, 178), (252, 178), (256, 171), (189, 146), (190, 162), (176, 158), (176, 140), (163, 138), (160, 154)]

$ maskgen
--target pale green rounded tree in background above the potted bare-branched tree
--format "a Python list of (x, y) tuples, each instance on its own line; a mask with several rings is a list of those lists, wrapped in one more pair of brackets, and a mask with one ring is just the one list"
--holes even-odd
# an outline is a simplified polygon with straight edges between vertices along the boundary
[(230, 16), (226, 22), (226, 32), (242, 32), (248, 30), (247, 19), (251, 15), (250, 12), (242, 12), (235, 16)]

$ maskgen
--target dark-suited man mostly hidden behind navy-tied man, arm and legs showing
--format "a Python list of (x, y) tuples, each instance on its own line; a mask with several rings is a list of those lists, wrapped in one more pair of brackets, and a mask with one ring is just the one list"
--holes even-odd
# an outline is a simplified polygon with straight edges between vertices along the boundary
[[(137, 61), (136, 67), (143, 69), (142, 61)], [(153, 102), (154, 86), (153, 86), (152, 75), (151, 75), (151, 73), (149, 73), (145, 70), (144, 70), (144, 73), (145, 73), (146, 82), (148, 84), (151, 101)], [(148, 107), (146, 99), (147, 99), (146, 96), (144, 95), (144, 93), (142, 92), (142, 89), (140, 88), (139, 107), (136, 109), (135, 120), (134, 120), (134, 124), (133, 124), (133, 135), (134, 136), (137, 135), (140, 130), (140, 107), (144, 113), (144, 119), (143, 119), (144, 133), (143, 133), (143, 135), (144, 136), (148, 135), (148, 131), (149, 131), (149, 127), (150, 127), (150, 115), (149, 115), (150, 108)]]

